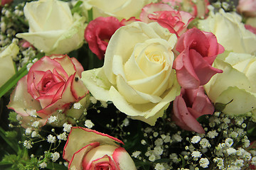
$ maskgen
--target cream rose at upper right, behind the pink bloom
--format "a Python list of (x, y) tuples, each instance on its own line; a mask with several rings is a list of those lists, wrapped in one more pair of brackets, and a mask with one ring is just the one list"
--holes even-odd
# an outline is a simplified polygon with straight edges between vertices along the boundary
[(210, 13), (206, 20), (198, 21), (198, 28), (213, 33), (225, 50), (255, 54), (256, 35), (245, 29), (237, 13)]

